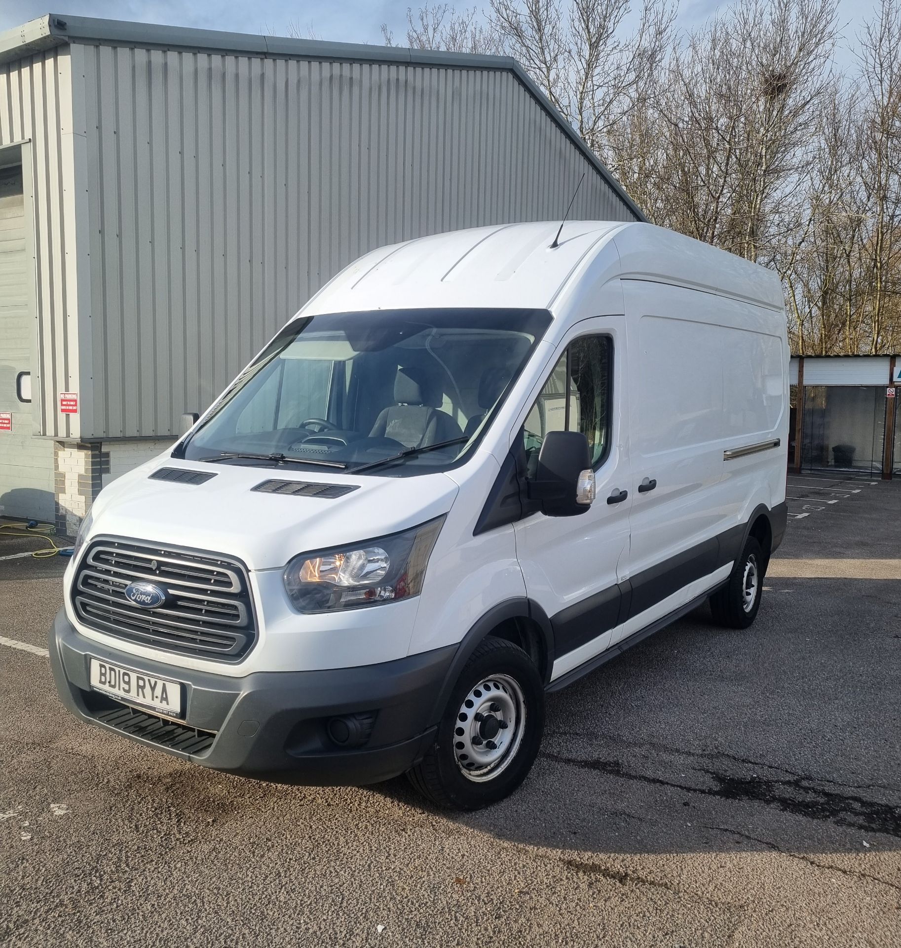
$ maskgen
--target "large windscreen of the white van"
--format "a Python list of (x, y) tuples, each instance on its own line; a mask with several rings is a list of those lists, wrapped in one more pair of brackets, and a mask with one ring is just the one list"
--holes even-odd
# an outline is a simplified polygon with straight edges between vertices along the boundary
[(550, 325), (547, 310), (294, 319), (176, 451), (240, 465), (445, 469), (478, 443)]

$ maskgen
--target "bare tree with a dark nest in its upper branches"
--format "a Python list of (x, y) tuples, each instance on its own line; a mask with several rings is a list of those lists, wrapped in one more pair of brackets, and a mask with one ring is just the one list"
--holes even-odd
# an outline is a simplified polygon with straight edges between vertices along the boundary
[(740, 0), (672, 50), (657, 107), (670, 227), (774, 263), (834, 80), (835, 0)]

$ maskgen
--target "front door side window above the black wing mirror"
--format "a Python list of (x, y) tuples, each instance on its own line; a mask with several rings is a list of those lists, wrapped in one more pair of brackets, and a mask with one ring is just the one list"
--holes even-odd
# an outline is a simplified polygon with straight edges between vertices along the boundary
[(586, 336), (560, 356), (523, 426), (529, 476), (549, 431), (581, 431), (588, 439), (591, 466), (604, 460), (610, 441), (611, 355), (607, 336)]

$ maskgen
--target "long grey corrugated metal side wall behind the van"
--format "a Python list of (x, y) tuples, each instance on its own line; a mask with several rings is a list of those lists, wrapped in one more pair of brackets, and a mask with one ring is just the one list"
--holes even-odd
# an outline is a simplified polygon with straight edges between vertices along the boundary
[[(164, 436), (367, 250), (631, 212), (502, 71), (72, 46), (93, 428)], [(84, 395), (88, 386), (82, 386)]]

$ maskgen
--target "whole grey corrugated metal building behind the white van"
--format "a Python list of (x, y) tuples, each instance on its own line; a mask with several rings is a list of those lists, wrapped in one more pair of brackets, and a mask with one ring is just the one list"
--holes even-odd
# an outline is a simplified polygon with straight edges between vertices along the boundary
[(583, 173), (570, 216), (641, 219), (507, 58), (57, 14), (0, 34), (0, 333), (28, 340), (0, 352), (3, 512), (71, 530), (345, 264), (556, 218)]

